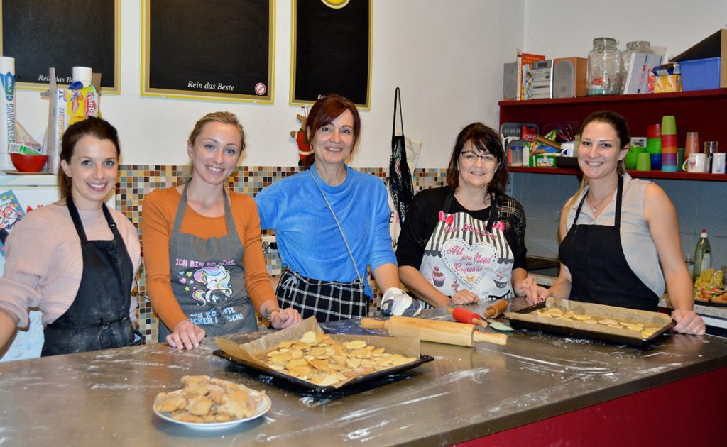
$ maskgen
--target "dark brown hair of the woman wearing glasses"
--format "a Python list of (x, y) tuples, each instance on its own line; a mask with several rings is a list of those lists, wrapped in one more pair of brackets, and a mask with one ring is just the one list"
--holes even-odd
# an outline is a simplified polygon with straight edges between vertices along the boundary
[(459, 163), (457, 158), (459, 158), (459, 154), (462, 153), (462, 149), (465, 148), (467, 142), (470, 141), (478, 150), (491, 153), (497, 158), (497, 170), (489, 185), (487, 185), (487, 190), (491, 193), (502, 194), (507, 187), (505, 150), (502, 148), (502, 141), (497, 132), (482, 123), (470, 124), (457, 135), (452, 155), (449, 158), (449, 166), (447, 167), (447, 185), (452, 191), (457, 191), (457, 188), (459, 188)]

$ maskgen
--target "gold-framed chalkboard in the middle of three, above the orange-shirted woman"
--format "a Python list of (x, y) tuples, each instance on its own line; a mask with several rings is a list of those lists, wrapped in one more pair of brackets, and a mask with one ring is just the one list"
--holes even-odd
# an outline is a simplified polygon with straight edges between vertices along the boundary
[(271, 102), (274, 0), (145, 0), (147, 96)]

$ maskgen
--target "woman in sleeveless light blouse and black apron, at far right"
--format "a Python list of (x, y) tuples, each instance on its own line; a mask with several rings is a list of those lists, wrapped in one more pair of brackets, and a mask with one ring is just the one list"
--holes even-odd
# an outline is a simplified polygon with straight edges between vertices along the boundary
[(618, 113), (595, 112), (584, 121), (578, 149), (583, 182), (561, 213), (561, 271), (550, 294), (656, 311), (667, 286), (674, 329), (704, 334), (676, 211), (662, 188), (625, 172), (629, 143)]

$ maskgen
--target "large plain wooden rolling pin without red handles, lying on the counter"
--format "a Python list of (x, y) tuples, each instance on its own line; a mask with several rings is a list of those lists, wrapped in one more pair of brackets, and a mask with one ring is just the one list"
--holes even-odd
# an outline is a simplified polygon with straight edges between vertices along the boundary
[(417, 337), (425, 342), (446, 343), (457, 346), (473, 346), (475, 342), (507, 345), (507, 335), (486, 334), (476, 330), (473, 324), (450, 321), (426, 320), (425, 318), (393, 316), (386, 321), (362, 318), (364, 329), (385, 329), (393, 337)]

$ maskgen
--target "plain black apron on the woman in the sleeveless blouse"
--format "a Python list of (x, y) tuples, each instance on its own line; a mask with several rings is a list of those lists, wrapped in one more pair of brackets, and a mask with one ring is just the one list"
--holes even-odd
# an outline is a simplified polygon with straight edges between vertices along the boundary
[(583, 195), (573, 225), (558, 254), (571, 271), (569, 299), (600, 305), (656, 311), (659, 297), (631, 270), (621, 243), (621, 202), (624, 179), (619, 176), (614, 226), (577, 225)]

